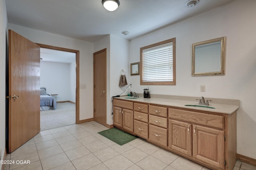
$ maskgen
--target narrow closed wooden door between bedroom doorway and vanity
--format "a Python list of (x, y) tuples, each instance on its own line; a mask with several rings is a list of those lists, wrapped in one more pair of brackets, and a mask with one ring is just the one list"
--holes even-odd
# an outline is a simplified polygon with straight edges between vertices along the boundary
[(106, 49), (94, 55), (94, 121), (106, 125)]

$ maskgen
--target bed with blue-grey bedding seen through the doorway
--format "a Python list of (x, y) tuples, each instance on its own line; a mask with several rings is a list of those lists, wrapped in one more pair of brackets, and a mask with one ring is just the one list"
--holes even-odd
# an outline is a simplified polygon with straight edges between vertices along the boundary
[(56, 100), (50, 94), (46, 93), (46, 88), (40, 88), (40, 111), (41, 110), (56, 110)]

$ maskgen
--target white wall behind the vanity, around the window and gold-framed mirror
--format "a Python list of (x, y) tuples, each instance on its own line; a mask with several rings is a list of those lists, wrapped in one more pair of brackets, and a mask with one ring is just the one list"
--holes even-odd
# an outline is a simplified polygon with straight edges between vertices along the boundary
[[(154, 31), (130, 42), (130, 63), (140, 61), (140, 47), (176, 37), (176, 86), (149, 86), (152, 94), (240, 100), (237, 152), (256, 158), (256, 1), (230, 3)], [(192, 43), (226, 36), (224, 76), (191, 76)], [(143, 92), (140, 76), (130, 78)], [(200, 85), (206, 92), (200, 92)], [(148, 86), (147, 86), (148, 87)]]

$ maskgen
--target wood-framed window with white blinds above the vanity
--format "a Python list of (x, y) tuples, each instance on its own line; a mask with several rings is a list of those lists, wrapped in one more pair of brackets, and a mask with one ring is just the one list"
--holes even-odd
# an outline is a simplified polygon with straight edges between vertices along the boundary
[(175, 85), (175, 38), (140, 48), (140, 84)]

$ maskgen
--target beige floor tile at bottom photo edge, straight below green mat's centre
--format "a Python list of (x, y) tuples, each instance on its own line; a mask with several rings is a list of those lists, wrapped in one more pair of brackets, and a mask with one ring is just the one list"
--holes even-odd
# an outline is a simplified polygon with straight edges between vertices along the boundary
[(114, 158), (103, 162), (110, 170), (125, 170), (134, 163), (122, 155), (117, 155)]

